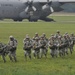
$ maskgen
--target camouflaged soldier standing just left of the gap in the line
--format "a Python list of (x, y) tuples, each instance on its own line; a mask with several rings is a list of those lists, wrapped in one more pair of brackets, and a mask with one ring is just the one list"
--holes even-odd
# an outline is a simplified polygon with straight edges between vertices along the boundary
[(8, 41), (8, 46), (10, 47), (10, 51), (8, 55), (10, 60), (13, 61), (14, 58), (15, 62), (17, 61), (16, 59), (17, 44), (18, 44), (17, 40), (13, 36), (10, 36)]

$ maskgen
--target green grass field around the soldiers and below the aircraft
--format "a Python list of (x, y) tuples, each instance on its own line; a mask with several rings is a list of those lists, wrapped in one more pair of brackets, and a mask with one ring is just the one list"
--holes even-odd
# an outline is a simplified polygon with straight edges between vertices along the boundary
[[(41, 35), (46, 33), (49, 38), (57, 30), (61, 34), (65, 32), (75, 33), (74, 16), (52, 16), (56, 22), (13, 22), (9, 20), (0, 22), (0, 42), (7, 43), (9, 36), (13, 35), (18, 40), (17, 59), (18, 62), (10, 62), (8, 56), (7, 62), (3, 63), (0, 58), (0, 75), (75, 75), (75, 51), (65, 57), (25, 60), (23, 52), (23, 39), (26, 34), (32, 38), (36, 32)], [(50, 50), (49, 50), (50, 52)]]

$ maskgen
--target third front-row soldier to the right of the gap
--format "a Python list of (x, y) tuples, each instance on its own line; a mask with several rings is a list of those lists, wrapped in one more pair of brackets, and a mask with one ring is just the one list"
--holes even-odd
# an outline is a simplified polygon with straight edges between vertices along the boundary
[(44, 38), (44, 36), (41, 36), (40, 39), (40, 54), (41, 54), (41, 58), (43, 56), (43, 54), (45, 55), (45, 57), (47, 57), (47, 48), (46, 48), (46, 39)]

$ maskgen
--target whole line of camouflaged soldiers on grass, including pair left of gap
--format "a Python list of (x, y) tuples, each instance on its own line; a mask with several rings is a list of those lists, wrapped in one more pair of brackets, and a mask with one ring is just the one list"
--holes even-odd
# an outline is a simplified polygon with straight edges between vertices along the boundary
[[(9, 37), (8, 44), (0, 43), (0, 55), (4, 62), (5, 56), (9, 55), (11, 61), (17, 61), (16, 58), (16, 50), (17, 50), (17, 40), (13, 37)], [(24, 56), (27, 59), (31, 57), (31, 53), (35, 58), (42, 58), (43, 55), (47, 57), (47, 52), (50, 49), (50, 54), (52, 57), (65, 56), (68, 55), (68, 50), (70, 53), (74, 51), (74, 44), (75, 44), (75, 35), (72, 33), (69, 35), (65, 33), (63, 36), (60, 34), (60, 31), (57, 31), (55, 35), (51, 34), (51, 37), (48, 39), (46, 34), (43, 33), (41, 36), (38, 33), (35, 33), (35, 36), (31, 39), (27, 34), (23, 40), (23, 50)]]

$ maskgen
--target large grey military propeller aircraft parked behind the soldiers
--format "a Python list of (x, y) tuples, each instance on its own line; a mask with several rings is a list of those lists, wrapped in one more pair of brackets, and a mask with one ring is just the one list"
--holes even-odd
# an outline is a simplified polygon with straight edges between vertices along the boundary
[(74, 2), (75, 0), (0, 0), (0, 20), (54, 21), (47, 16), (56, 11), (63, 11), (65, 8), (69, 9), (67, 6), (70, 4), (72, 7), (73, 4), (75, 6)]

